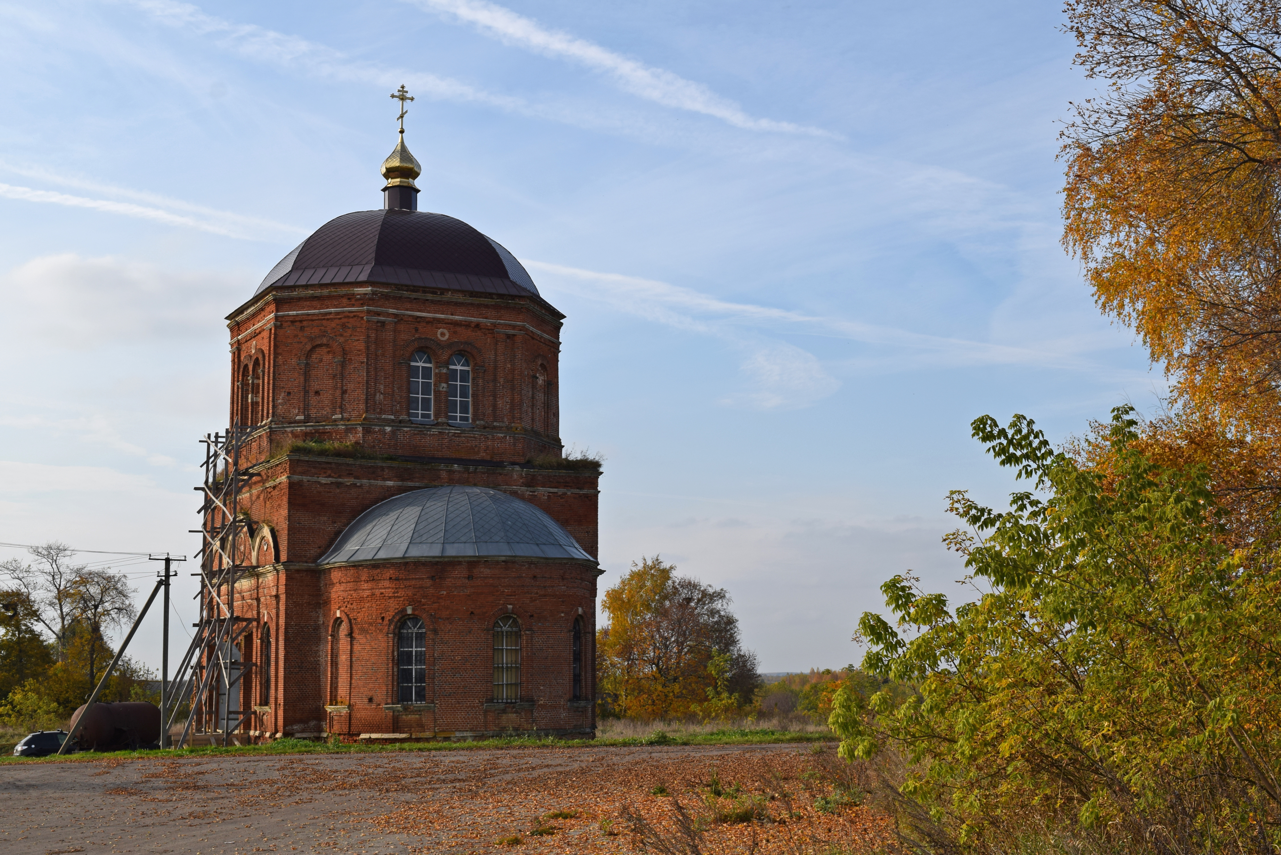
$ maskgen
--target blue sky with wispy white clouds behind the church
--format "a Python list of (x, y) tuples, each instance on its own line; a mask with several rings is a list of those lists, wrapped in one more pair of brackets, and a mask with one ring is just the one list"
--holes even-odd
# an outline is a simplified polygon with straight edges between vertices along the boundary
[(1094, 91), (1059, 23), (1012, 0), (0, 3), (0, 541), (195, 551), (223, 317), (380, 206), (404, 83), (420, 208), (567, 315), (602, 591), (658, 552), (729, 588), (765, 670), (857, 660), (889, 576), (963, 595), (944, 496), (1012, 488), (971, 419), (1059, 441), (1164, 388), (1058, 244), (1058, 122)]

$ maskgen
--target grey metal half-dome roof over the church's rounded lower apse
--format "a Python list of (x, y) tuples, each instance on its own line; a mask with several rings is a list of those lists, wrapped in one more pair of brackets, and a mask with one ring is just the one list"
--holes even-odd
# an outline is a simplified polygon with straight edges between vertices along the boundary
[(428, 487), (356, 518), (320, 564), (436, 555), (532, 555), (594, 561), (541, 508), (488, 487)]

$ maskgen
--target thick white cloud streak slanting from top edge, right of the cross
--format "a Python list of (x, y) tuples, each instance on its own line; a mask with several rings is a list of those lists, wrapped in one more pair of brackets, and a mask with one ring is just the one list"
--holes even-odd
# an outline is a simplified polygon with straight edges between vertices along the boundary
[(406, 1), (420, 9), (443, 13), (446, 17), (474, 24), (480, 32), (506, 45), (516, 45), (546, 56), (557, 56), (585, 65), (607, 74), (624, 91), (662, 106), (710, 115), (747, 131), (839, 136), (822, 128), (756, 118), (703, 83), (685, 79), (665, 68), (646, 65), (571, 33), (548, 29), (532, 18), (487, 0)]

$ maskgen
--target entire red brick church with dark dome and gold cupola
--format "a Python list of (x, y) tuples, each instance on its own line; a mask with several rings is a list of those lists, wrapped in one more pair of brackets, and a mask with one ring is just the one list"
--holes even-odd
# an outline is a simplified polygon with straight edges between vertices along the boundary
[(236, 613), (251, 737), (591, 737), (597, 485), (559, 437), (564, 317), (511, 253), (418, 210), (329, 220), (228, 315), (250, 437)]

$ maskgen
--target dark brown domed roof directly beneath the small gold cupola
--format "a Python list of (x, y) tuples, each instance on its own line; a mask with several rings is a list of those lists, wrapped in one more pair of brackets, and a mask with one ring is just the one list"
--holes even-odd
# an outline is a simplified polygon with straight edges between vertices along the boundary
[(461, 219), (418, 210), (357, 210), (330, 219), (272, 268), (273, 285), (388, 282), (538, 296), (520, 261)]

